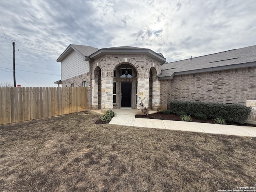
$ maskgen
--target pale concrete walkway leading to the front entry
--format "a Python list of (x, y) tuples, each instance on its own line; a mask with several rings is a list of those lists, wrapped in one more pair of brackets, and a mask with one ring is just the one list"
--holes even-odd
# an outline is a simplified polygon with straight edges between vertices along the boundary
[(135, 118), (136, 109), (116, 109), (114, 112), (117, 115), (109, 124), (256, 137), (256, 127)]

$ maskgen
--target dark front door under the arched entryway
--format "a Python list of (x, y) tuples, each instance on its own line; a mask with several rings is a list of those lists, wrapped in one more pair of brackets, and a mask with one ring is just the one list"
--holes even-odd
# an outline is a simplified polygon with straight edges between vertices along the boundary
[(132, 82), (121, 82), (121, 107), (132, 107)]

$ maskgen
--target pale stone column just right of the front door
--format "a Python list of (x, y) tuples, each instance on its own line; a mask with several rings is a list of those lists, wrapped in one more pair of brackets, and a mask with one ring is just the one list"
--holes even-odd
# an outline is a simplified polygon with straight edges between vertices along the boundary
[(141, 99), (143, 99), (143, 103), (145, 107), (148, 107), (149, 100), (149, 79), (146, 78), (138, 78), (138, 104), (137, 104), (137, 114), (142, 114), (142, 107), (139, 105)]

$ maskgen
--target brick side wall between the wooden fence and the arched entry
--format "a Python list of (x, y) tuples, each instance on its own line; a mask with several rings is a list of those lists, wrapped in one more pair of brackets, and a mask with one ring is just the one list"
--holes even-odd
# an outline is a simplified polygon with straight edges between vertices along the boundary
[(87, 107), (90, 109), (90, 106), (92, 104), (92, 98), (91, 98), (91, 78), (90, 78), (90, 72), (78, 75), (69, 79), (62, 80), (62, 87), (71, 87), (71, 84), (74, 84), (74, 87), (82, 87), (82, 82), (86, 81), (87, 86)]

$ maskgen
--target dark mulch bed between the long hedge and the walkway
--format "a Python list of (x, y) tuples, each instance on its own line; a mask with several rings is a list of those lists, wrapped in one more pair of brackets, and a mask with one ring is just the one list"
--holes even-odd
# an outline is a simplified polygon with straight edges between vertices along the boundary
[[(136, 118), (148, 118), (148, 119), (162, 119), (162, 120), (173, 120), (173, 121), (181, 121), (180, 117), (177, 116), (176, 114), (162, 114), (161, 112), (149, 114), (149, 115), (135, 115)], [(204, 120), (199, 120), (191, 116), (192, 122), (200, 122), (200, 123), (214, 123), (214, 120), (212, 119), (207, 119), (206, 121)], [(234, 124), (234, 123), (227, 123), (228, 125), (240, 125), (240, 126), (252, 126), (256, 127), (256, 125), (253, 124)]]

